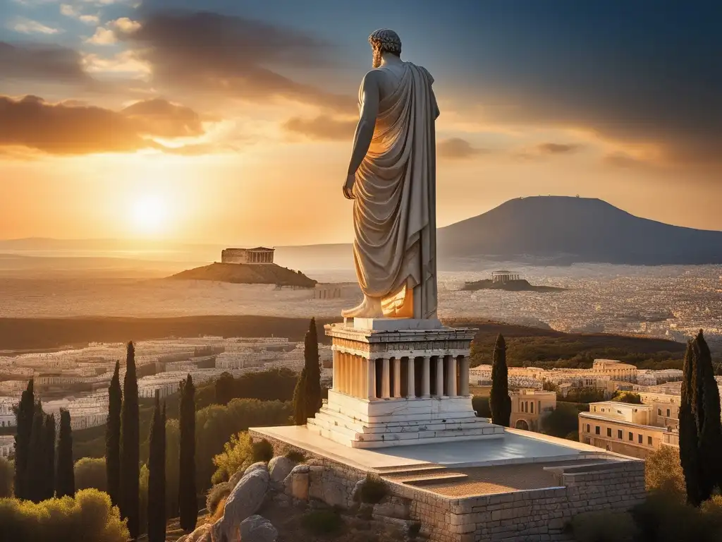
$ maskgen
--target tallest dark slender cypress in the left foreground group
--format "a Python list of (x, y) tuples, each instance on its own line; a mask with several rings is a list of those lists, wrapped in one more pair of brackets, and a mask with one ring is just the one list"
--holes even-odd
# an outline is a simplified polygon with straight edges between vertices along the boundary
[(140, 442), (138, 379), (135, 366), (135, 345), (128, 343), (126, 377), (123, 379), (123, 407), (121, 408), (121, 518), (128, 520), (131, 539), (140, 532)]

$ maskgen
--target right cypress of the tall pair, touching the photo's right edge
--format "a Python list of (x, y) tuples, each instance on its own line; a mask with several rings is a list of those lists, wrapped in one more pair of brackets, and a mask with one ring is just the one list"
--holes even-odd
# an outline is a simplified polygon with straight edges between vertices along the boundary
[(720, 419), (720, 395), (712, 367), (712, 355), (702, 330), (692, 343), (697, 364), (697, 396), (700, 448), (700, 496), (707, 500), (716, 486), (720, 485), (719, 454), (722, 451), (722, 421)]

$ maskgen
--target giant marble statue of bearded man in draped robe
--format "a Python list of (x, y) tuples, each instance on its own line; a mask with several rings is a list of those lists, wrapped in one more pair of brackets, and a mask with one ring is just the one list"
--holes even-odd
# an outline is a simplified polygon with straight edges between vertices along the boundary
[(344, 318), (436, 318), (434, 79), (401, 60), (393, 30), (369, 36), (373, 69), (359, 90), (360, 120), (344, 183), (354, 200), (361, 304)]

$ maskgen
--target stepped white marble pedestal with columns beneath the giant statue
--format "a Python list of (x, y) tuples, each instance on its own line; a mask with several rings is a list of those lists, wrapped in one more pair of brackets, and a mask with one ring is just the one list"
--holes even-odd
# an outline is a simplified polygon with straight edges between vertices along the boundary
[(327, 325), (334, 389), (308, 430), (355, 448), (503, 436), (503, 427), (477, 418), (471, 407), (469, 349), (476, 330), (432, 322)]

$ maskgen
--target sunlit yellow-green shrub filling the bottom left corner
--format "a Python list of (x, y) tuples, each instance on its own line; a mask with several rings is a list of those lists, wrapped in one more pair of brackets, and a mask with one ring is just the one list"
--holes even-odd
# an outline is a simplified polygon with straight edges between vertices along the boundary
[(126, 525), (110, 497), (84, 489), (75, 498), (48, 499), (33, 504), (0, 499), (0, 539), (12, 542), (126, 542)]

